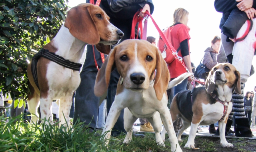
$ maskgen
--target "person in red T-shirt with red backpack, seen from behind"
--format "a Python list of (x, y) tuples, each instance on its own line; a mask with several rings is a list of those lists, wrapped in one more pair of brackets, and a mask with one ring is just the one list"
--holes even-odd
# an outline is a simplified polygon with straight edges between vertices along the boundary
[[(188, 28), (188, 11), (184, 8), (177, 8), (173, 14), (173, 25), (166, 28), (164, 30), (164, 34), (166, 38), (171, 42), (172, 46), (178, 52), (178, 56), (182, 57), (182, 61), (185, 63), (186, 67), (188, 68), (190, 73), (192, 72), (191, 62), (190, 62), (190, 50), (189, 50), (189, 42), (190, 35), (188, 34), (190, 28)], [(158, 41), (158, 47), (161, 52), (164, 50), (162, 49), (161, 43), (163, 40), (160, 38)], [(170, 78), (173, 80), (177, 78), (181, 74), (187, 72), (186, 69), (180, 62), (174, 59), (172, 55), (172, 51), (166, 49), (166, 57), (164, 58), (166, 63), (168, 64), (168, 69), (170, 72)], [(180, 84), (174, 87), (174, 96), (181, 91), (186, 90), (188, 81), (192, 81), (191, 77), (186, 78)], [(170, 98), (171, 99), (171, 98)], [(171, 102), (171, 101), (170, 101)], [(178, 131), (180, 126), (180, 121), (174, 122), (174, 130), (175, 132)]]

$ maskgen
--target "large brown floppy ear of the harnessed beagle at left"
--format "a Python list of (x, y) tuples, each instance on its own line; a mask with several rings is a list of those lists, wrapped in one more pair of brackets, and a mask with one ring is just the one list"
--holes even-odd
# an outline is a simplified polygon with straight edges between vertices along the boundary
[(91, 5), (81, 5), (68, 11), (64, 26), (75, 38), (88, 44), (98, 44), (100, 34), (90, 14)]

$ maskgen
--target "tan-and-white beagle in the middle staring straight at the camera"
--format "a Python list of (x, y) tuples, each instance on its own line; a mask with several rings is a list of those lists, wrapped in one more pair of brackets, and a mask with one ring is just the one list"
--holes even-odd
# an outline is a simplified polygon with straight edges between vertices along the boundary
[[(102, 135), (105, 135), (102, 138), (106, 140), (106, 144), (120, 111), (124, 109), (124, 129), (127, 131), (124, 143), (132, 140), (132, 125), (137, 118), (147, 118), (154, 128), (156, 142), (164, 146), (160, 136), (163, 122), (170, 137), (172, 152), (182, 151), (167, 107), (166, 90), (191, 74), (182, 74), (168, 84), (170, 74), (161, 52), (146, 40), (124, 40), (111, 50), (100, 68), (94, 86), (96, 96), (102, 96), (107, 91), (110, 73), (115, 67), (120, 74), (120, 79), (115, 100), (102, 132)], [(110, 132), (105, 133), (106, 131)]]

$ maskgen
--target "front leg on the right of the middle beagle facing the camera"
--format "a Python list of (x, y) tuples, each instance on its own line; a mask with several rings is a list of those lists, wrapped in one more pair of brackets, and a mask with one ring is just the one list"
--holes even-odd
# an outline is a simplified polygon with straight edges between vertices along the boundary
[(164, 124), (164, 128), (166, 129), (167, 134), (169, 136), (169, 141), (170, 141), (170, 144), (171, 144), (172, 152), (174, 152), (174, 151), (175, 152), (182, 152), (182, 150), (180, 148), (180, 145), (178, 143), (178, 139), (176, 138), (176, 134), (175, 134), (173, 124), (172, 124), (172, 117), (171, 117), (170, 111), (169, 111), (167, 106), (160, 113), (160, 116), (161, 116), (161, 120)]

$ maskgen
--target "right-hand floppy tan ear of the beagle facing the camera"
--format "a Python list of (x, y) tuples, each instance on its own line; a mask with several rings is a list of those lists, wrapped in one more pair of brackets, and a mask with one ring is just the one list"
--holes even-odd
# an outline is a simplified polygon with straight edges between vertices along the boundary
[(167, 68), (167, 64), (162, 58), (162, 54), (156, 48), (156, 79), (154, 89), (156, 91), (156, 97), (158, 100), (162, 100), (163, 94), (167, 90), (169, 81), (170, 73)]

